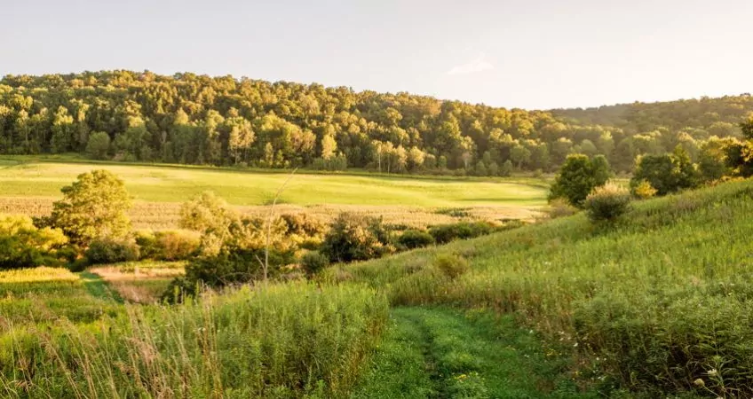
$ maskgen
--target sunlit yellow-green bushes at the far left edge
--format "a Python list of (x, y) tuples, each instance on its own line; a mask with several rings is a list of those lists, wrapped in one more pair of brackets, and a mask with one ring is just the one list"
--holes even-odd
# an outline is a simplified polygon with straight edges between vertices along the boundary
[(59, 229), (38, 229), (28, 216), (0, 215), (0, 270), (54, 265), (67, 241)]

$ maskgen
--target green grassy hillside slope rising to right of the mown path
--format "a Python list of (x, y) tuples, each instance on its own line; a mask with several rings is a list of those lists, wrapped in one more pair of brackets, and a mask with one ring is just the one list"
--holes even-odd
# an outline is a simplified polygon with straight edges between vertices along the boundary
[[(576, 379), (654, 393), (753, 395), (753, 181), (329, 270), (393, 305), (512, 313), (572, 348)], [(437, 267), (470, 262), (457, 278)], [(446, 262), (446, 261), (445, 261)], [(460, 262), (460, 261), (458, 261)]]

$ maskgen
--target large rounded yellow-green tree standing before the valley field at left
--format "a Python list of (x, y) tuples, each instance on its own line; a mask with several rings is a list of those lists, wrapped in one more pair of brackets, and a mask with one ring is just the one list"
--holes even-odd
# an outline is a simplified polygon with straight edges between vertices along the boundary
[(71, 242), (88, 246), (93, 239), (123, 239), (131, 231), (125, 211), (131, 199), (123, 181), (107, 170), (93, 170), (60, 190), (63, 199), (52, 204), (51, 223)]

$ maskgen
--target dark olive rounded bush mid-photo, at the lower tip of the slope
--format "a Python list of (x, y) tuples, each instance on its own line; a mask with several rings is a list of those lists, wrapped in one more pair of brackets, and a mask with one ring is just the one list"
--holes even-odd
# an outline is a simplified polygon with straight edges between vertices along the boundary
[(378, 258), (393, 248), (381, 218), (344, 213), (329, 226), (320, 252), (331, 262), (353, 262)]

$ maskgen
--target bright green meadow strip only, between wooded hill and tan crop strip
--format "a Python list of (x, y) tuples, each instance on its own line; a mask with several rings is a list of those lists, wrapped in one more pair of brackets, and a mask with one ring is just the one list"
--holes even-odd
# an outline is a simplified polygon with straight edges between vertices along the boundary
[(366, 176), (239, 171), (79, 162), (23, 162), (5, 160), (0, 168), (0, 196), (59, 197), (59, 190), (91, 169), (107, 169), (121, 177), (135, 200), (183, 202), (213, 191), (229, 203), (266, 205), (285, 184), (281, 203), (301, 206), (337, 204), (358, 206), (472, 207), (507, 205), (540, 207), (546, 184), (536, 179), (506, 181), (411, 176)]

